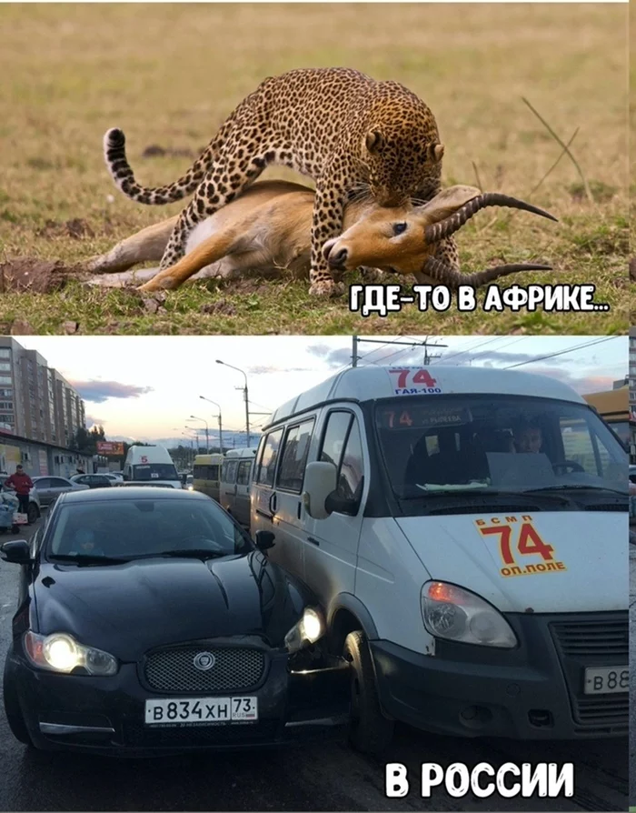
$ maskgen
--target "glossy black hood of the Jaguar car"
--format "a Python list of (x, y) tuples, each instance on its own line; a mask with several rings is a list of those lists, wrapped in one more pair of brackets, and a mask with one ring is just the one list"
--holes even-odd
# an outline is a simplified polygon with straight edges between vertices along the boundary
[(256, 635), (278, 647), (308, 601), (259, 551), (206, 561), (43, 563), (34, 592), (39, 632), (68, 632), (124, 661), (152, 647), (210, 637)]

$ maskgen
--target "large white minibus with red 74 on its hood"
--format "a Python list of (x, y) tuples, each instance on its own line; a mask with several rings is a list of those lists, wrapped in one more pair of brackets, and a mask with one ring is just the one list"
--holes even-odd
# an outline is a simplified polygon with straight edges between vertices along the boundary
[(628, 730), (627, 457), (569, 386), (462, 366), (348, 369), (280, 407), (251, 532), (350, 660), (353, 745)]

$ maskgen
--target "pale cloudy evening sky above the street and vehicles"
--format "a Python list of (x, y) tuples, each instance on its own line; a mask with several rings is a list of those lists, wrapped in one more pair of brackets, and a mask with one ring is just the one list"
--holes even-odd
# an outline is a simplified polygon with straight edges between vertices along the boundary
[[(359, 364), (420, 365), (426, 336), (368, 336)], [(45, 356), (84, 397), (86, 416), (102, 424), (110, 439), (180, 437), (185, 426), (204, 429), (204, 418), (224, 429), (242, 430), (245, 371), (250, 410), (268, 412), (304, 389), (351, 364), (349, 336), (20, 336), (23, 346)], [(510, 367), (553, 376), (579, 393), (611, 387), (627, 375), (626, 336), (429, 336), (432, 364)], [(444, 345), (444, 346), (442, 346)], [(568, 351), (568, 352), (563, 352)], [(553, 355), (559, 354), (559, 355)], [(540, 359), (540, 356), (551, 356)], [(530, 362), (530, 363), (529, 363)], [(265, 416), (253, 415), (254, 428)]]

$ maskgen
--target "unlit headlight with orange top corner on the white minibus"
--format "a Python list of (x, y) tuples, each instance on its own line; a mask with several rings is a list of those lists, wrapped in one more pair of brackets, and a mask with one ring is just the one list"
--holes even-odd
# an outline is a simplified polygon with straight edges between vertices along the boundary
[(422, 619), (434, 637), (482, 647), (512, 648), (517, 637), (499, 610), (462, 587), (429, 581), (422, 587)]

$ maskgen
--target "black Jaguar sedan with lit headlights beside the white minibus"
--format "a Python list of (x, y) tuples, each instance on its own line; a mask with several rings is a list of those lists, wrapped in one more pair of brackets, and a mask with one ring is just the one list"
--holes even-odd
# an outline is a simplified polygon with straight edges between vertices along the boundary
[(122, 756), (277, 744), (339, 730), (349, 667), (321, 611), (210, 497), (62, 494), (22, 564), (5, 710), (45, 749)]

